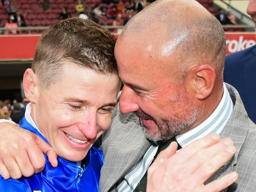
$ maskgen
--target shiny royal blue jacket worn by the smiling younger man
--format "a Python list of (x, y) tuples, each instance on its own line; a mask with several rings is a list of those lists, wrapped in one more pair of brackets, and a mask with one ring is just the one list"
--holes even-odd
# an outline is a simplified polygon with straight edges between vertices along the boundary
[[(22, 119), (20, 127), (39, 135), (45, 142), (48, 141), (27, 122)], [(32, 177), (21, 177), (18, 180), (5, 180), (0, 176), (1, 192), (98, 192), (100, 169), (103, 164), (102, 151), (92, 147), (81, 165), (58, 157), (58, 166), (53, 168), (45, 155), (46, 164), (43, 172)]]

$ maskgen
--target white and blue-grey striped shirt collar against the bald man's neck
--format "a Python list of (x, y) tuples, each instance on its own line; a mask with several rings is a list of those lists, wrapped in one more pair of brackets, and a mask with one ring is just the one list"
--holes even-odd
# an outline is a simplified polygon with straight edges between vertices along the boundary
[(224, 92), (221, 101), (211, 115), (201, 124), (193, 129), (176, 136), (180, 146), (185, 147), (191, 142), (198, 140), (210, 133), (221, 133), (226, 122), (231, 116), (234, 104), (228, 93), (226, 85), (223, 83)]

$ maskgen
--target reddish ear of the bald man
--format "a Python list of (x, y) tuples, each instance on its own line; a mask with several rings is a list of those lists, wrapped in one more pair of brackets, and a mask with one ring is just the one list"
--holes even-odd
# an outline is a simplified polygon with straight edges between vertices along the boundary
[(188, 75), (190, 90), (197, 99), (205, 99), (211, 94), (213, 89), (216, 74), (210, 65), (197, 65), (193, 67)]

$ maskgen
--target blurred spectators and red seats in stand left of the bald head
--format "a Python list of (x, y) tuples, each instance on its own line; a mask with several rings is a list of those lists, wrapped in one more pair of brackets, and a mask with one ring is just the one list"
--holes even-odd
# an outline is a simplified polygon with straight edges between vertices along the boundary
[[(1, 0), (0, 27), (50, 26), (56, 19), (69, 17), (91, 18), (102, 25), (122, 26), (132, 16), (154, 0)], [(37, 7), (39, 6), (40, 7)], [(19, 8), (18, 8), (19, 7)], [(54, 11), (56, 10), (56, 11)], [(59, 13), (56, 13), (58, 12)], [(70, 11), (72, 11), (70, 13)], [(59, 17), (55, 17), (59, 14)], [(51, 16), (53, 15), (53, 16)], [(25, 21), (26, 20), (26, 21)], [(31, 22), (31, 20), (34, 22)], [(51, 22), (53, 21), (53, 22)], [(19, 34), (19, 30), (4, 30), (0, 33)], [(117, 32), (114, 29), (113, 32)]]

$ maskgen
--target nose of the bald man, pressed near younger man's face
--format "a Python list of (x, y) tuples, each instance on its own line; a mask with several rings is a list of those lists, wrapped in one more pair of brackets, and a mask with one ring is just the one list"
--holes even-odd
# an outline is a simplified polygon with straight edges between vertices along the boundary
[(119, 107), (122, 113), (129, 113), (139, 109), (139, 106), (135, 102), (136, 96), (132, 88), (124, 85), (119, 100)]

